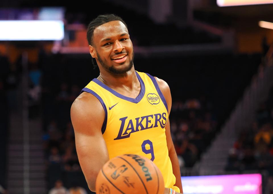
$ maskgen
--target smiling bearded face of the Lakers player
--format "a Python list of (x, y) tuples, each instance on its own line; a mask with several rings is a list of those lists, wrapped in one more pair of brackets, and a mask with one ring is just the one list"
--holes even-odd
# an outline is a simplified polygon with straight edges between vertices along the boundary
[(96, 58), (100, 72), (123, 75), (133, 67), (134, 51), (126, 26), (111, 21), (94, 30), (93, 45), (89, 51)]

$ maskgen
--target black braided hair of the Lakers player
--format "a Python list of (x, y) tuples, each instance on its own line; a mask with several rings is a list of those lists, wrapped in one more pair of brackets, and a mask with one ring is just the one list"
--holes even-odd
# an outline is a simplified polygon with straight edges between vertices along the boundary
[[(94, 30), (98, 26), (108, 23), (108, 22), (111, 22), (111, 21), (117, 21), (117, 20), (121, 21), (128, 29), (125, 21), (123, 21), (123, 19), (121, 17), (114, 15), (114, 14), (98, 15), (98, 17), (93, 19), (87, 26), (87, 35), (86, 36), (87, 36), (88, 44), (91, 46), (94, 46), (94, 42), (93, 42)], [(92, 58), (92, 63), (94, 65), (94, 69), (95, 69), (98, 65), (96, 63), (94, 63), (94, 61), (95, 60)]]

